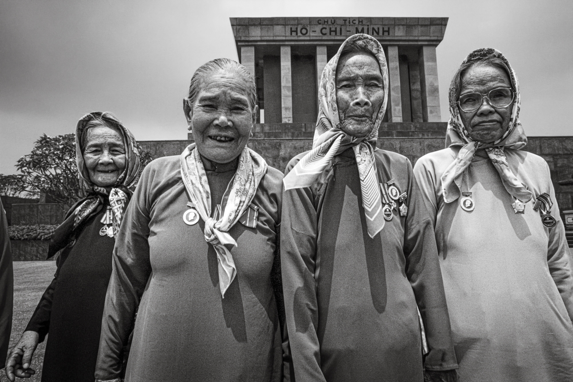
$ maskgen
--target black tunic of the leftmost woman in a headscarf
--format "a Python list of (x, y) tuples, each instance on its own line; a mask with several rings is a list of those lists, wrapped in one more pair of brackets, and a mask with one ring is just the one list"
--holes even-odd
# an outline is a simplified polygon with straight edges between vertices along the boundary
[(26, 330), (48, 343), (42, 382), (93, 382), (100, 340), (105, 291), (112, 269), (115, 241), (101, 236), (105, 208), (79, 228), (76, 243), (66, 247), (57, 270)]

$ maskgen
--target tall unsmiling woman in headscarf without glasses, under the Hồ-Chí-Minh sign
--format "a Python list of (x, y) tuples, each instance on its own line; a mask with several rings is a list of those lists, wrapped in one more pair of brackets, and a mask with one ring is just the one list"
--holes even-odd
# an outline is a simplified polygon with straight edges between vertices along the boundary
[(281, 266), (296, 380), (421, 382), (424, 369), (457, 380), (429, 215), (410, 161), (376, 149), (387, 97), (382, 46), (349, 37), (322, 74), (314, 148), (286, 169)]

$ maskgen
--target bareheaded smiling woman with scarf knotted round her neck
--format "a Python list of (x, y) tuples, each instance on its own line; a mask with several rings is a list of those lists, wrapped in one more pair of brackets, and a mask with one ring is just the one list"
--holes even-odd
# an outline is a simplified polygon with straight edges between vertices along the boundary
[(146, 167), (120, 229), (96, 378), (119, 381), (135, 319), (125, 381), (279, 381), (282, 173), (246, 147), (254, 79), (210, 61), (183, 108), (195, 143)]

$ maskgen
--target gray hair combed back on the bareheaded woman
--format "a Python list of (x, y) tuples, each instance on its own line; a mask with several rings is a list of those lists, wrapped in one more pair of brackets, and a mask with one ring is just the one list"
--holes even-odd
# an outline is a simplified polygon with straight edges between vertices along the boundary
[(257, 85), (254, 82), (254, 77), (249, 73), (247, 68), (237, 63), (237, 61), (230, 59), (211, 60), (208, 63), (201, 65), (195, 71), (193, 77), (191, 77), (189, 95), (187, 95), (187, 99), (189, 99), (189, 103), (191, 105), (195, 103), (199, 92), (201, 92), (203, 79), (205, 79), (207, 75), (216, 72), (235, 73), (242, 80), (244, 80), (247, 85), (247, 96), (251, 104), (251, 109), (254, 109), (254, 107), (257, 105)]

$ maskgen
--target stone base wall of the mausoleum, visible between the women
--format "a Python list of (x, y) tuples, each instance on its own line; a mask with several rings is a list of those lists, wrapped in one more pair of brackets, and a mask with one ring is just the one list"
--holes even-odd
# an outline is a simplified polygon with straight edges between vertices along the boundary
[[(284, 170), (295, 155), (312, 148), (314, 123), (256, 124), (249, 147), (265, 157), (270, 166)], [(401, 153), (414, 164), (419, 157), (444, 148), (446, 123), (383, 123), (378, 147)], [(143, 149), (154, 158), (179, 155), (190, 141), (142, 141)], [(529, 137), (524, 150), (540, 155), (547, 161), (561, 211), (573, 209), (573, 185), (559, 185), (573, 174), (573, 136)]]

